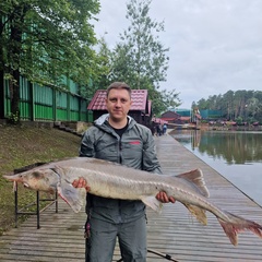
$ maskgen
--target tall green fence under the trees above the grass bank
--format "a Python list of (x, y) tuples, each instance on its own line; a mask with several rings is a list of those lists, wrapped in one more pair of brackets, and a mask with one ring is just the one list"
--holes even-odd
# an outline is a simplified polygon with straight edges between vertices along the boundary
[[(20, 116), (29, 121), (93, 121), (87, 100), (69, 91), (31, 83), (20, 79)], [(9, 81), (4, 81), (4, 117), (9, 118), (11, 99)]]

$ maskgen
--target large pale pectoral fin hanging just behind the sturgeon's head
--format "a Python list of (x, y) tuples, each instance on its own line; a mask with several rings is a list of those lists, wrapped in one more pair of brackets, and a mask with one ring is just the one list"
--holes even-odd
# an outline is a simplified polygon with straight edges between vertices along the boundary
[(74, 188), (67, 180), (61, 179), (58, 183), (58, 193), (75, 213), (79, 213), (84, 204), (86, 190), (84, 188)]

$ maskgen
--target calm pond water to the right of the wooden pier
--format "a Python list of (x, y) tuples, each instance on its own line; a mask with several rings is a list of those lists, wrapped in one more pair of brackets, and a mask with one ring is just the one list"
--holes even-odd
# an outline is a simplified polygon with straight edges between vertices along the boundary
[(262, 132), (178, 130), (172, 136), (262, 205)]

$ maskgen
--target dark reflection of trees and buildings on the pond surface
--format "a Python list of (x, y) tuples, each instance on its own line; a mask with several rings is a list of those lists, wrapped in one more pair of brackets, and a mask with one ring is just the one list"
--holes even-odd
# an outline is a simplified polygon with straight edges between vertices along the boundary
[(192, 151), (223, 158), (227, 164), (262, 163), (262, 133), (178, 131), (174, 134)]

